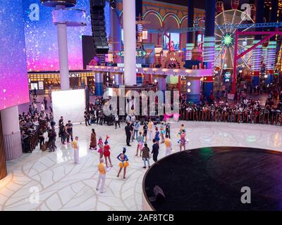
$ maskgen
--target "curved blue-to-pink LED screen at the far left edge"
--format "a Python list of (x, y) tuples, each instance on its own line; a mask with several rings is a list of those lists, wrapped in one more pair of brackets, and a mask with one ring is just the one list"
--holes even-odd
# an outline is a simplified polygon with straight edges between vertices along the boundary
[(0, 1), (0, 31), (0, 110), (3, 110), (30, 100), (21, 0)]

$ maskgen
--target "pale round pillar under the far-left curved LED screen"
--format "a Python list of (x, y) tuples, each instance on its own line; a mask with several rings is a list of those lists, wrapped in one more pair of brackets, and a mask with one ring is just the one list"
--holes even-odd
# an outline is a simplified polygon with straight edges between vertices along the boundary
[(1, 123), (4, 138), (6, 160), (14, 160), (23, 155), (18, 106), (1, 110)]

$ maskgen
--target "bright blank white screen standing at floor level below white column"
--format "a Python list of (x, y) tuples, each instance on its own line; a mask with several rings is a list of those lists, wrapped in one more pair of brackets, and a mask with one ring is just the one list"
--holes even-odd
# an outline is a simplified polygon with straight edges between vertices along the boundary
[(84, 121), (85, 89), (70, 91), (52, 91), (52, 108), (54, 121), (58, 124), (60, 117), (65, 122), (72, 123)]

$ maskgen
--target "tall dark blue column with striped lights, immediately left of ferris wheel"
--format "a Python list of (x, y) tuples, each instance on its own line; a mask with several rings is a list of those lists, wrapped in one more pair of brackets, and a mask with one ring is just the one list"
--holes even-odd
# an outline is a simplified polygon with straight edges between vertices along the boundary
[[(215, 0), (206, 0), (206, 20), (204, 30), (203, 60), (204, 67), (214, 70), (214, 17), (215, 17)], [(214, 79), (204, 77), (203, 95), (209, 101), (209, 95), (214, 90)]]

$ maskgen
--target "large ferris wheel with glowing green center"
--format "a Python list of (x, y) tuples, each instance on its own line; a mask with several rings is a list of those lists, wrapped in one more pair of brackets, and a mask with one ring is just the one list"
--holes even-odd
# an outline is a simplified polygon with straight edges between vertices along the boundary
[[(223, 70), (232, 70), (234, 63), (234, 44), (235, 44), (235, 26), (240, 24), (255, 24), (251, 16), (243, 11), (231, 9), (222, 11), (216, 15), (215, 25), (227, 25), (227, 27), (218, 27), (215, 30), (215, 56), (214, 68), (222, 74)], [(231, 26), (228, 26), (231, 25)], [(252, 26), (247, 27), (245, 30), (252, 30)], [(252, 46), (254, 37), (242, 37), (238, 39), (238, 54), (247, 50)], [(244, 57), (238, 60), (238, 67), (250, 70), (252, 53), (247, 53)]]

